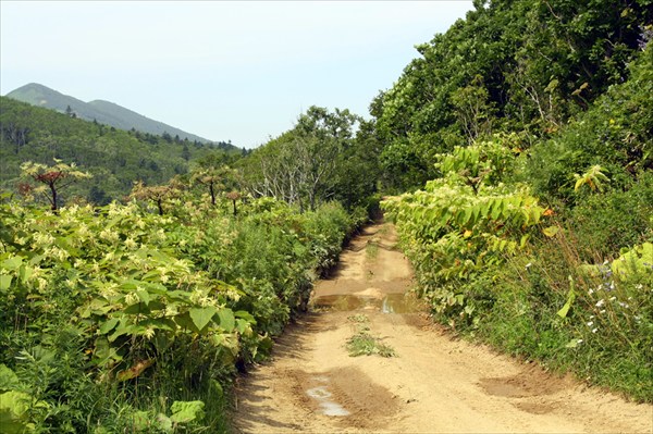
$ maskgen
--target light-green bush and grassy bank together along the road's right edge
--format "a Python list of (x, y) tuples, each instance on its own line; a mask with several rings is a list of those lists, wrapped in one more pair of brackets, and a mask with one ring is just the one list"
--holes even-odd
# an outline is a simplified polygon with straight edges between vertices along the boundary
[(501, 144), (441, 156), (442, 178), (383, 203), (420, 294), (459, 333), (653, 401), (651, 174), (556, 215), (507, 182)]

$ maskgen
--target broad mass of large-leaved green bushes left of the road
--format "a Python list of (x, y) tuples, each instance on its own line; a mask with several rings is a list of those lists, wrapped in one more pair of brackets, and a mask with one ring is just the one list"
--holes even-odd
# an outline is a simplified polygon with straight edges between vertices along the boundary
[[(353, 230), (335, 203), (260, 199), (235, 218), (168, 200), (167, 215), (0, 204), (1, 411), (16, 430), (224, 430), (236, 367), (264, 357)], [(181, 418), (194, 401), (206, 417)]]

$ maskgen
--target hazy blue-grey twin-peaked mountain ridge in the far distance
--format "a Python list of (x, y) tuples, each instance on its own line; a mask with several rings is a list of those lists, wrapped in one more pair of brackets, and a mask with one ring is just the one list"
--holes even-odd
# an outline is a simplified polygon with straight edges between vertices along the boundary
[(47, 86), (39, 85), (38, 83), (29, 83), (19, 87), (7, 94), (7, 97), (27, 102), (32, 106), (57, 110), (61, 113), (65, 113), (70, 107), (72, 113), (79, 119), (97, 121), (100, 124), (110, 125), (119, 129), (130, 131), (134, 128), (141, 133), (156, 134), (158, 136), (168, 133), (172, 137), (180, 136), (180, 139), (182, 140), (187, 138), (190, 141), (200, 141), (204, 144), (212, 142), (212, 140), (186, 133), (185, 131), (175, 128), (174, 126), (170, 126), (162, 122), (151, 120), (113, 102), (100, 99), (84, 102), (71, 96), (63, 95), (54, 89), (50, 89)]

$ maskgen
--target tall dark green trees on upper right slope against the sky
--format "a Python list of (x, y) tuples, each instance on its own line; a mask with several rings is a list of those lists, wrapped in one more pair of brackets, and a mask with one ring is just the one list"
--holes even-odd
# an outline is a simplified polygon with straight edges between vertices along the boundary
[(489, 133), (526, 131), (528, 146), (554, 134), (628, 79), (653, 20), (649, 0), (478, 0), (475, 8), (417, 46), (420, 55), (370, 107), (391, 187), (418, 187), (414, 175), (438, 175), (438, 153)]

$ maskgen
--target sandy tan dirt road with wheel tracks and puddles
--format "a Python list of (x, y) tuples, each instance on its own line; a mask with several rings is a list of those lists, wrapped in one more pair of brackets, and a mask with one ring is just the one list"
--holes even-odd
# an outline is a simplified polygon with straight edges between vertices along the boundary
[[(453, 339), (404, 298), (394, 228), (368, 227), (313, 294), (313, 312), (236, 386), (242, 433), (652, 433), (653, 406)], [(361, 326), (396, 357), (349, 357)]]

